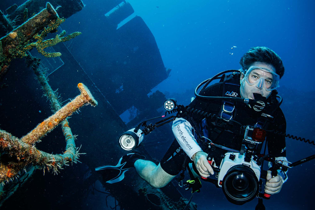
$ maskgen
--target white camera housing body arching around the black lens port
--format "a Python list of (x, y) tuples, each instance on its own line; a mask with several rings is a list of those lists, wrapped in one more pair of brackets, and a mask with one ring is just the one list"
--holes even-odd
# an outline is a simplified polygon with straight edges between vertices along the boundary
[[(233, 158), (234, 157), (234, 158)], [(257, 165), (257, 163), (253, 160), (253, 158), (250, 159), (250, 162), (244, 161), (244, 155), (241, 155), (240, 153), (232, 153), (227, 152), (221, 161), (220, 165), (220, 172), (218, 176), (218, 185), (219, 187), (222, 187), (222, 182), (224, 179), (224, 176), (228, 172), (228, 170), (235, 165), (243, 165), (249, 167), (256, 175), (257, 180), (260, 178), (260, 166)]]

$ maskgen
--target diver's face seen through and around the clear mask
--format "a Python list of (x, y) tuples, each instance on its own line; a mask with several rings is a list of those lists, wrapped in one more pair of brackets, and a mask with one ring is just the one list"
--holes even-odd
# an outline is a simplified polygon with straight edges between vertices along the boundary
[[(268, 69), (272, 72), (275, 72), (275, 68), (272, 65), (261, 63), (261, 62), (254, 62), (252, 66), (260, 67), (263, 69)], [(262, 96), (268, 98), (271, 95), (271, 91), (267, 91), (268, 88), (268, 78), (272, 78), (272, 74), (261, 69), (253, 70), (248, 77), (249, 83), (253, 83), (254, 85), (249, 85), (247, 81), (245, 81), (244, 74), (241, 74), (241, 87), (240, 93), (242, 98), (249, 98), (255, 99), (253, 93), (259, 93)], [(261, 78), (261, 79), (260, 79)], [(265, 79), (262, 79), (265, 78)], [(259, 79), (260, 81), (257, 81)], [(266, 88), (265, 88), (266, 87)]]

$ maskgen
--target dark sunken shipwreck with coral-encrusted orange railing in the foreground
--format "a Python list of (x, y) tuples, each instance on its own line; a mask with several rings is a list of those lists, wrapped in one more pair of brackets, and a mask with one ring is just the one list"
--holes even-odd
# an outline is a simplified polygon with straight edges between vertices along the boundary
[[(164, 94), (150, 92), (170, 70), (164, 67), (144, 21), (135, 16), (121, 24), (134, 13), (132, 6), (108, 0), (93, 11), (101, 18), (91, 17), (93, 24), (83, 23), (80, 32), (66, 35), (60, 24), (67, 24), (65, 18), (83, 8), (81, 0), (29, 0), (0, 12), (0, 181), (4, 184), (0, 202), (4, 208), (31, 208), (33, 196), (37, 205), (51, 209), (89, 209), (89, 202), (97, 207), (96, 201), (89, 201), (96, 199), (91, 192), (101, 191), (97, 188), (101, 177), (94, 168), (115, 165), (126, 154), (119, 135), (161, 113)], [(86, 16), (84, 9), (76, 14), (88, 21)], [(69, 18), (70, 25), (71, 21), (75, 20)], [(80, 108), (87, 103), (95, 108)], [(150, 135), (144, 144), (168, 146), (173, 138), (170, 129)], [(139, 150), (153, 161), (162, 155), (155, 153), (155, 146)], [(82, 164), (72, 165), (76, 162)], [(106, 205), (109, 195), (114, 198), (111, 208), (183, 209), (188, 203), (173, 184), (152, 188), (135, 170), (123, 181), (104, 187)], [(186, 207), (194, 208), (193, 203)]]

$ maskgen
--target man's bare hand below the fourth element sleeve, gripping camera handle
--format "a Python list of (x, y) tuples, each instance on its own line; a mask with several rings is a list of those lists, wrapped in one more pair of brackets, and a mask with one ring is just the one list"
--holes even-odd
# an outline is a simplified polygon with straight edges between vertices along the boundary
[(192, 160), (194, 161), (199, 174), (207, 178), (210, 174), (214, 174), (212, 167), (207, 160), (208, 154), (203, 151), (198, 151), (192, 155)]

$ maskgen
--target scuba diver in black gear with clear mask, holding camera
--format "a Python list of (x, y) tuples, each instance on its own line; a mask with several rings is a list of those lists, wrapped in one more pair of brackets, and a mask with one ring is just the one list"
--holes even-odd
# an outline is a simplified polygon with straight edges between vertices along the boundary
[[(277, 99), (276, 90), (280, 78), (284, 75), (283, 62), (273, 50), (267, 47), (253, 47), (242, 56), (240, 65), (242, 66), (240, 71), (224, 74), (220, 77), (220, 82), (204, 87), (188, 105), (188, 109), (199, 110), (198, 113), (202, 114), (196, 112), (176, 117), (172, 125), (175, 140), (158, 165), (140, 154), (129, 153), (124, 155), (116, 166), (101, 166), (95, 170), (103, 174), (103, 179), (107, 183), (116, 183), (124, 178), (126, 171), (135, 167), (141, 178), (151, 186), (161, 188), (190, 162), (190, 174), (196, 174), (201, 176), (201, 179), (211, 182), (217, 176), (215, 169), (220, 166), (222, 160), (226, 160), (227, 152), (232, 153), (226, 161), (235, 159), (233, 152), (243, 151), (241, 153), (245, 155), (245, 161), (246, 154), (250, 154), (250, 159), (253, 154), (260, 153), (262, 144), (244, 143), (247, 139), (244, 135), (253, 132), (251, 128), (261, 129), (257, 136), (259, 138), (262, 135), (263, 140), (266, 139), (268, 154), (274, 157), (275, 161), (286, 163), (285, 136), (280, 135), (286, 131), (286, 121), (279, 108), (281, 102)], [(220, 100), (208, 99), (215, 97)], [(246, 104), (240, 100), (233, 100), (241, 98), (255, 100), (256, 103)], [(251, 142), (251, 138), (249, 139)], [(269, 161), (269, 164), (271, 168), (272, 162)], [(221, 171), (222, 167), (221, 164)], [(107, 169), (113, 168), (120, 169), (120, 173), (115, 174), (115, 177), (106, 172)], [(259, 179), (259, 175), (254, 179)], [(240, 176), (242, 174), (236, 175), (231, 181), (236, 191), (238, 188), (242, 190), (244, 182), (245, 185), (247, 182)], [(284, 179), (280, 173), (275, 174), (268, 170), (265, 179), (264, 192), (266, 195), (272, 195), (280, 192), (287, 177)], [(193, 191), (198, 191), (198, 188)], [(254, 191), (257, 195), (258, 190)], [(241, 201), (235, 203), (244, 203), (242, 199), (239, 200)]]

